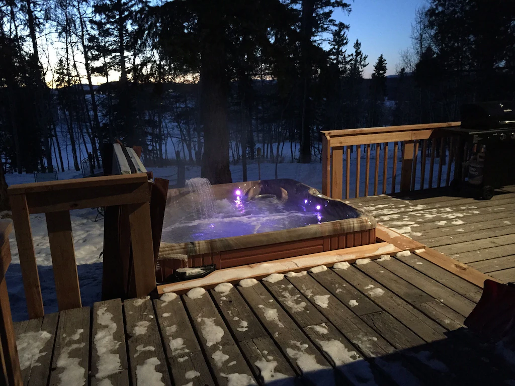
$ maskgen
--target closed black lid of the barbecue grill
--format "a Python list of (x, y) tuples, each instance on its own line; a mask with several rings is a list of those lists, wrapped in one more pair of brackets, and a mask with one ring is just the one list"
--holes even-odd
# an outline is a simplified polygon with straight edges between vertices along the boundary
[(467, 103), (461, 106), (461, 127), (494, 130), (515, 128), (515, 102)]

